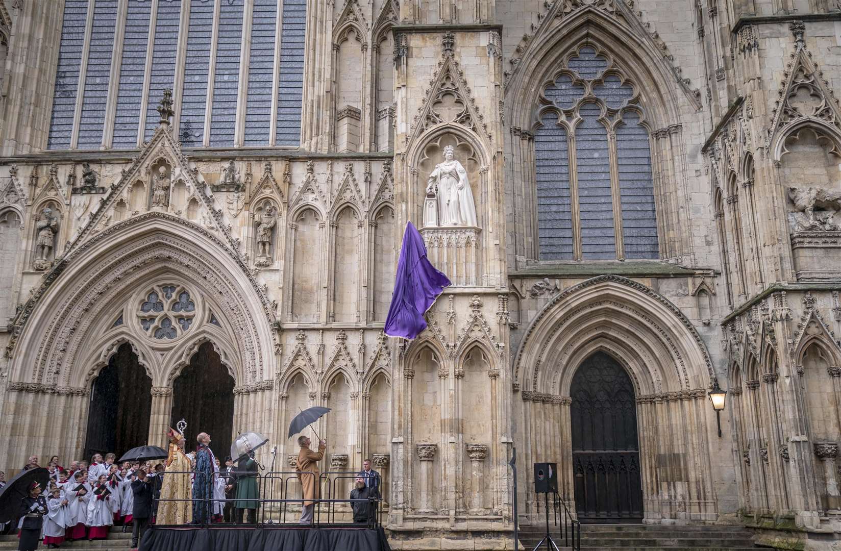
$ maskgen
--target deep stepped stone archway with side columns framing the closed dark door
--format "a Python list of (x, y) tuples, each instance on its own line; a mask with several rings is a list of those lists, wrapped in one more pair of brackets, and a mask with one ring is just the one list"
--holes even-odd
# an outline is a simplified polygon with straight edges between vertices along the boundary
[(595, 352), (616, 359), (632, 380), (646, 522), (685, 512), (715, 520), (709, 354), (675, 305), (627, 278), (599, 276), (563, 291), (526, 330), (514, 364), (529, 442), (526, 464), (558, 460), (563, 499), (574, 501), (570, 385)]

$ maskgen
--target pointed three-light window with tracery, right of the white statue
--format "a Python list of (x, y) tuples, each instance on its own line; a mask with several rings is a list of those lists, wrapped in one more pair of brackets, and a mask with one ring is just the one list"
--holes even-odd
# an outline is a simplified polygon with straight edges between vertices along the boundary
[(541, 260), (659, 257), (638, 96), (590, 45), (543, 87), (534, 133)]

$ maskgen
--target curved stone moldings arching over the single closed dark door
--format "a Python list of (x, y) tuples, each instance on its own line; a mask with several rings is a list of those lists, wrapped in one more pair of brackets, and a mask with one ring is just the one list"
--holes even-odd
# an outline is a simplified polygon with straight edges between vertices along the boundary
[[(570, 331), (570, 327), (578, 331)], [(677, 306), (642, 283), (609, 275), (590, 278), (563, 291), (535, 316), (517, 352), (514, 382), (521, 382), (524, 389), (547, 388), (542, 363), (569, 344), (574, 350), (576, 335), (594, 332), (612, 332), (613, 341), (625, 340), (639, 354), (650, 354), (646, 373), (651, 370), (652, 376), (638, 379), (641, 389), (664, 392), (704, 388), (715, 377), (701, 336)], [(654, 374), (663, 381), (662, 389), (643, 384), (658, 379)]]

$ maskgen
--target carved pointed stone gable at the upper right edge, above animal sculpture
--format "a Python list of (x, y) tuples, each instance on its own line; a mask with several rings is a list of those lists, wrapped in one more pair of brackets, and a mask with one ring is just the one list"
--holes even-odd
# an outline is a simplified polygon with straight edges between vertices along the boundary
[(807, 50), (803, 41), (803, 23), (792, 21), (789, 28), (795, 34), (795, 50), (785, 66), (775, 107), (771, 109), (766, 146), (775, 135), (785, 134), (785, 130), (806, 120), (841, 129), (838, 99), (812, 59), (812, 52)]

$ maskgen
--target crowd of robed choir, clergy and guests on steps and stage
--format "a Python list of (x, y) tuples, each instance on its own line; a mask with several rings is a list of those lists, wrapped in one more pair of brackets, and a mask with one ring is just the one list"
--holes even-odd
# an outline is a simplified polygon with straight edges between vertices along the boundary
[[(255, 524), (260, 505), (258, 467), (253, 452), (230, 457), (224, 466), (209, 448), (210, 436), (197, 437), (195, 452), (186, 453), (186, 438), (169, 430), (166, 462), (116, 462), (114, 453), (95, 453), (90, 462), (73, 461), (61, 467), (53, 456), (46, 469), (50, 474), (47, 487), (29, 487), (29, 495), (21, 502), (19, 550), (35, 549), (38, 543), (50, 548), (74, 540), (95, 540), (108, 537), (113, 526), (131, 528), (132, 548), (136, 548), (150, 522), (179, 525), (190, 522), (236, 522)], [(299, 437), (300, 452), (296, 471), (302, 487), (300, 522), (313, 522), (316, 501), (320, 495), (319, 462), (325, 456), (326, 442), (319, 442), (312, 451), (308, 437)], [(24, 470), (39, 468), (38, 457), (29, 458)], [(6, 484), (0, 471), (0, 490)], [(371, 469), (370, 460), (355, 478), (350, 500), (354, 522), (373, 519), (374, 501), (379, 495), (380, 477)], [(244, 518), (245, 517), (245, 518)], [(14, 528), (0, 525), (0, 532)]]

